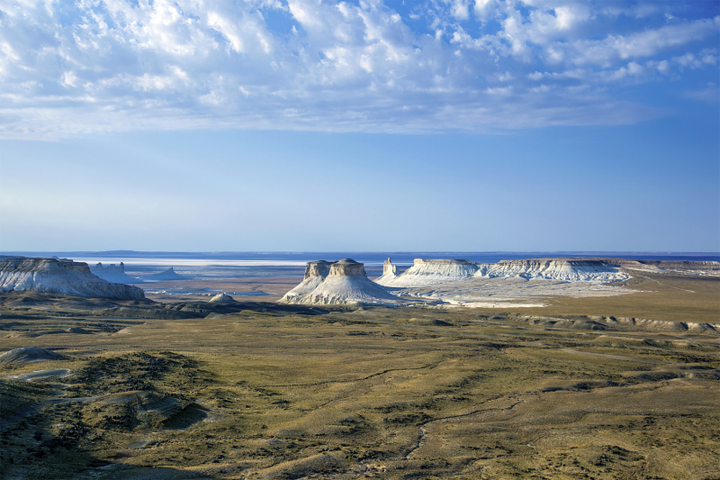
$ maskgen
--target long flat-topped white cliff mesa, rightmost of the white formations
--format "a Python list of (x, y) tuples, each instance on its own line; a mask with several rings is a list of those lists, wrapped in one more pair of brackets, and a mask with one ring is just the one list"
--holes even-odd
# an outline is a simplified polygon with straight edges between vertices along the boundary
[(604, 259), (595, 258), (527, 258), (500, 260), (498, 263), (478, 266), (475, 276), (488, 278), (520, 276), (522, 278), (545, 278), (565, 282), (610, 283), (626, 280), (630, 276), (620, 267)]

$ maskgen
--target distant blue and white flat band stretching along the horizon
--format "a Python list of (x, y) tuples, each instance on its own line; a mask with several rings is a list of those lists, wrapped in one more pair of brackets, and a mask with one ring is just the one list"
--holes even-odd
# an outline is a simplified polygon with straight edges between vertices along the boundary
[(157, 273), (174, 267), (178, 274), (195, 278), (253, 278), (302, 276), (305, 264), (312, 260), (353, 258), (364, 263), (368, 276), (383, 273), (383, 262), (392, 258), (401, 270), (412, 265), (414, 258), (463, 258), (478, 263), (500, 260), (547, 257), (615, 257), (638, 260), (704, 260), (720, 261), (720, 253), (683, 252), (141, 252), (113, 250), (103, 252), (2, 252), (23, 257), (72, 258), (76, 261), (104, 265), (125, 264), (130, 276)]

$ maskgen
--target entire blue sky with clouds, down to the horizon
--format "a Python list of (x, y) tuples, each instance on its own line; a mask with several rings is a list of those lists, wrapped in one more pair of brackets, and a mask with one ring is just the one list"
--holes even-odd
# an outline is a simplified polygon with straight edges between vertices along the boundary
[(720, 4), (0, 0), (0, 250), (720, 251)]

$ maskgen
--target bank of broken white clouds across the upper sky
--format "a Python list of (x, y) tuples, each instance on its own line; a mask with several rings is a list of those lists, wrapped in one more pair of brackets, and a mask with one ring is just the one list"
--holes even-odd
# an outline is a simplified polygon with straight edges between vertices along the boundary
[(716, 102), (719, 32), (714, 2), (0, 0), (0, 136), (639, 122), (644, 84)]

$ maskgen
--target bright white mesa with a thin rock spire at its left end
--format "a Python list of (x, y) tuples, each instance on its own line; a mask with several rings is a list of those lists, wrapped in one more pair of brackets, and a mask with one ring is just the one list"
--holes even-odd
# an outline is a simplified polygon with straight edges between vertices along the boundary
[(413, 266), (400, 275), (386, 273), (383, 268), (383, 276), (376, 278), (375, 283), (392, 287), (446, 284), (470, 278), (478, 268), (478, 264), (468, 260), (415, 258)]

